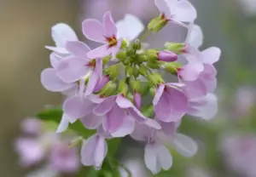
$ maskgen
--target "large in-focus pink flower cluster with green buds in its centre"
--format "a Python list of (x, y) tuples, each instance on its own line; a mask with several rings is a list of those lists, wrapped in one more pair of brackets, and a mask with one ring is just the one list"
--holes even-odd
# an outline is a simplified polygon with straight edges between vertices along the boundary
[[(90, 49), (79, 41), (66, 24), (52, 28), (55, 47), (50, 54), (51, 68), (41, 74), (41, 82), (49, 91), (67, 95), (58, 132), (69, 123), (81, 121), (85, 128), (96, 129), (81, 149), (82, 163), (99, 169), (108, 152), (108, 139), (130, 134), (146, 143), (144, 159), (156, 174), (172, 166), (172, 156), (164, 141), (170, 141), (186, 157), (195, 154), (196, 144), (178, 134), (177, 127), (186, 114), (210, 119), (217, 111), (217, 71), (220, 49), (200, 51), (203, 36), (194, 25), (196, 10), (187, 0), (155, 0), (159, 16), (143, 23), (125, 14), (114, 22), (107, 12), (103, 20), (84, 20), (84, 36), (102, 45)], [(166, 43), (160, 49), (145, 49), (143, 40), (159, 32), (169, 23), (188, 28), (184, 43)], [(173, 77), (166, 83), (160, 74)], [(146, 104), (147, 100), (152, 100)], [(152, 108), (150, 115), (143, 110)]]

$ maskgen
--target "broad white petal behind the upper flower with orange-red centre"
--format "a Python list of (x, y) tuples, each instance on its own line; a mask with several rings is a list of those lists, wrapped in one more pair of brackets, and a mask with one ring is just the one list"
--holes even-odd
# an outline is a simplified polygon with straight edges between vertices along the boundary
[[(118, 38), (125, 38), (128, 41), (132, 41), (138, 37), (138, 35), (144, 30), (143, 22), (132, 14), (125, 14), (123, 20), (119, 20), (116, 23), (118, 32)], [(129, 29), (129, 30), (127, 30)]]

